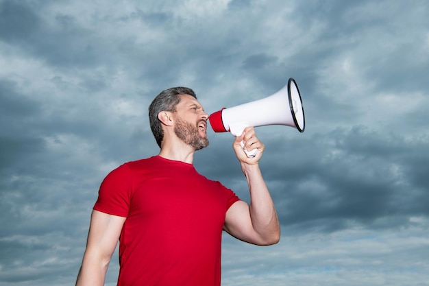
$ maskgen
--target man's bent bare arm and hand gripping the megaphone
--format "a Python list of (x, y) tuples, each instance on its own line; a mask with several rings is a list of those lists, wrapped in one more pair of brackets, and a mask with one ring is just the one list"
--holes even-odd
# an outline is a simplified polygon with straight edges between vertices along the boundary
[[(247, 150), (258, 148), (254, 158), (248, 158), (240, 142)], [(280, 222), (271, 195), (259, 169), (258, 162), (265, 146), (256, 137), (254, 128), (246, 128), (234, 141), (234, 150), (247, 178), (250, 205), (238, 201), (228, 209), (224, 229), (230, 235), (257, 245), (270, 245), (280, 240)]]

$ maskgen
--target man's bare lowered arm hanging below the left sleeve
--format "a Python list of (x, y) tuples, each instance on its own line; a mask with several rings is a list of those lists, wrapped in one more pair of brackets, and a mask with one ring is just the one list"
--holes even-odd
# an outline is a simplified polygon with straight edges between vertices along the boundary
[(93, 211), (76, 286), (104, 285), (106, 271), (124, 222), (125, 217)]

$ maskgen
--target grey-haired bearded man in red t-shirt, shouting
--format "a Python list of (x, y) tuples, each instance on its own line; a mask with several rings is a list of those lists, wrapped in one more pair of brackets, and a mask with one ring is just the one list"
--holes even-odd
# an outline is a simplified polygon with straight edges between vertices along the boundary
[[(119, 240), (119, 286), (221, 284), (221, 235), (270, 245), (280, 239), (275, 206), (258, 162), (264, 145), (254, 128), (233, 147), (251, 203), (194, 169), (207, 147), (208, 115), (191, 88), (162, 91), (149, 106), (158, 156), (125, 163), (101, 183), (77, 286), (103, 285)], [(248, 158), (241, 147), (258, 149)]]

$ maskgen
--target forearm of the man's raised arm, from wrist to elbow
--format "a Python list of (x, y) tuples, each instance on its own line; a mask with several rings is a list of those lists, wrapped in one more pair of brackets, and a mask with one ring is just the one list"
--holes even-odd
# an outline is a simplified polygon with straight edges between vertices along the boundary
[(241, 164), (250, 191), (250, 216), (254, 230), (267, 243), (277, 243), (280, 239), (280, 222), (267, 185), (258, 164)]

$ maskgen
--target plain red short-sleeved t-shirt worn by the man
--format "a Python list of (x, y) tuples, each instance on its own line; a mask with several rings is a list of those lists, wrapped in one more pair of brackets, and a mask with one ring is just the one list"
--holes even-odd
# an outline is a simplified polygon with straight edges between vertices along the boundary
[(225, 213), (238, 200), (180, 161), (154, 156), (114, 169), (94, 209), (127, 217), (118, 285), (221, 285)]

